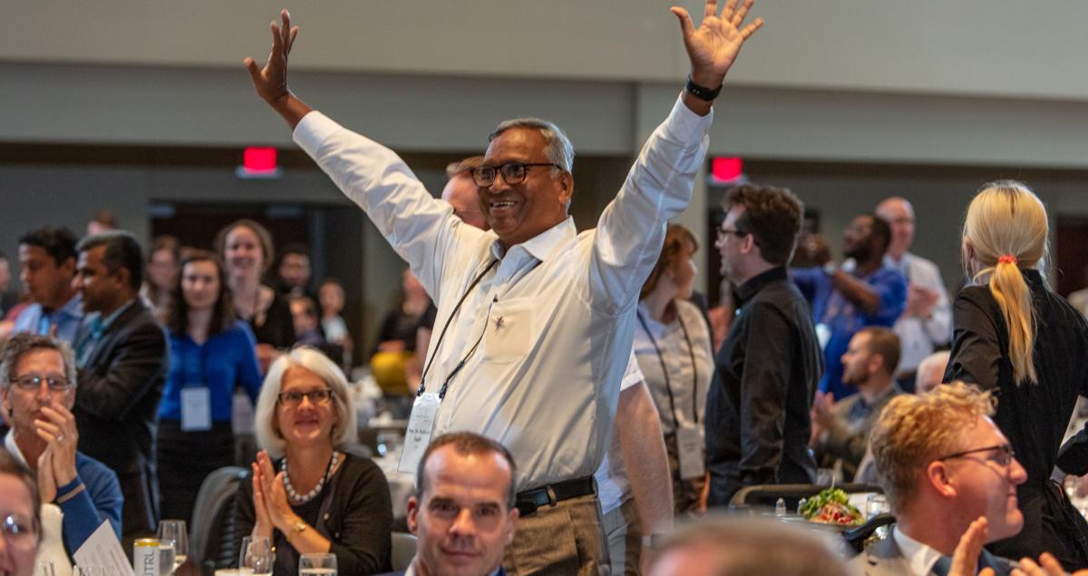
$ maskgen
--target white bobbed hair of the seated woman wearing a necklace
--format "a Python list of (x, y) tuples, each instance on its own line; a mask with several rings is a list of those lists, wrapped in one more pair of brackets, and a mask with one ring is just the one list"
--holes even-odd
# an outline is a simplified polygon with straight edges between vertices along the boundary
[(257, 397), (257, 410), (254, 417), (257, 432), (257, 444), (269, 451), (273, 457), (284, 455), (287, 443), (276, 425), (275, 408), (280, 403), (280, 390), (283, 388), (283, 377), (287, 369), (306, 368), (318, 375), (333, 391), (333, 405), (336, 407), (336, 421), (333, 422), (332, 440), (337, 450), (345, 450), (356, 444), (359, 431), (356, 429), (355, 406), (351, 394), (348, 393), (347, 378), (335, 363), (316, 348), (299, 346), (276, 358), (269, 367), (269, 373), (261, 384), (261, 395)]

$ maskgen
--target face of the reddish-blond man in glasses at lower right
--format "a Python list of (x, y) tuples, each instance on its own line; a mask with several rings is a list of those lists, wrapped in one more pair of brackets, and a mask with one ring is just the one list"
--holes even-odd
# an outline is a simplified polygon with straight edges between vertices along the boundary
[[(956, 452), (1007, 444), (1009, 439), (985, 416), (964, 430)], [(990, 450), (949, 458), (949, 483), (955, 488), (955, 510), (966, 522), (986, 516), (992, 542), (1019, 534), (1024, 514), (1019, 511), (1016, 487), (1027, 480), (1027, 471), (1016, 458), (1009, 465), (998, 462), (1000, 451)]]

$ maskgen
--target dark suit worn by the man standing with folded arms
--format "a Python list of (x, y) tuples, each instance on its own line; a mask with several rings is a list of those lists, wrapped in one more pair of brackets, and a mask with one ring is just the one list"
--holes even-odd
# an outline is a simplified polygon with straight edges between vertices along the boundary
[[(85, 318), (76, 350), (90, 340)], [(159, 524), (154, 450), (159, 400), (166, 378), (166, 334), (136, 298), (102, 333), (79, 368), (75, 393), (79, 451), (118, 475), (125, 504), (123, 534), (153, 532)]]

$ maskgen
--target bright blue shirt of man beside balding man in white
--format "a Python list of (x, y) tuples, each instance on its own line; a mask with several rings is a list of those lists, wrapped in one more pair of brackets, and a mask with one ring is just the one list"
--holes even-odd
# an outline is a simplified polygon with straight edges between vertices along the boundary
[(820, 268), (795, 268), (790, 278), (812, 305), (813, 322), (823, 324), (829, 338), (824, 346), (824, 377), (819, 381), (821, 392), (831, 392), (836, 400), (857, 393), (857, 389), (842, 382), (842, 355), (850, 346), (850, 339), (861, 329), (869, 326), (891, 328), (903, 314), (906, 305), (906, 280), (902, 272), (887, 266), (877, 268), (860, 280), (871, 286), (880, 297), (875, 314), (851, 303), (834, 290), (831, 277)]

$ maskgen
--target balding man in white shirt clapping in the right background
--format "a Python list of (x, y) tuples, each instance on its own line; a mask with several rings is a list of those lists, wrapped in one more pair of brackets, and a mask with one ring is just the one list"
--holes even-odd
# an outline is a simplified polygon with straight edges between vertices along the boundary
[(906, 280), (906, 304), (892, 328), (903, 354), (899, 385), (914, 392), (918, 364), (952, 339), (952, 304), (937, 265), (907, 250), (914, 242), (914, 207), (906, 198), (892, 196), (877, 205), (877, 216), (891, 226), (891, 244), (885, 266), (899, 270)]

